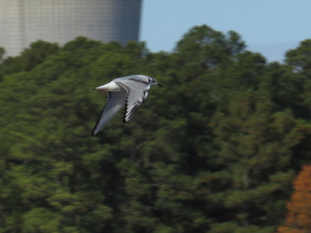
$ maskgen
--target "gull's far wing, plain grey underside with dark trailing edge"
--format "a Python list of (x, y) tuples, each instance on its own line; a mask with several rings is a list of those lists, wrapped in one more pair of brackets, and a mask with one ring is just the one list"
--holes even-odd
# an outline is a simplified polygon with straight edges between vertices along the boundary
[(121, 107), (123, 107), (126, 92), (107, 92), (108, 100), (103, 110), (100, 112), (96, 125), (91, 133), (91, 136), (97, 134), (109, 121), (117, 114)]

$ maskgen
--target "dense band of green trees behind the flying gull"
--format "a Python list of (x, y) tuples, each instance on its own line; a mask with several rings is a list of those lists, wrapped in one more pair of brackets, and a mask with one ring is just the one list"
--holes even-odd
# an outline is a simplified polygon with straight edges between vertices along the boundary
[[(285, 218), (311, 162), (311, 39), (284, 64), (207, 25), (170, 53), (84, 37), (0, 52), (0, 232), (307, 232)], [(133, 74), (163, 88), (91, 137), (107, 94), (89, 90)]]

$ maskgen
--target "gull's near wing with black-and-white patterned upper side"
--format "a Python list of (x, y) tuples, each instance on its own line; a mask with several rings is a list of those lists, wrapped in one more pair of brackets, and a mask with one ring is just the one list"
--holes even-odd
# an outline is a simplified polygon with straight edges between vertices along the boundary
[(135, 78), (116, 81), (116, 83), (127, 91), (123, 112), (123, 123), (125, 123), (135, 115), (142, 102), (146, 99), (150, 83)]

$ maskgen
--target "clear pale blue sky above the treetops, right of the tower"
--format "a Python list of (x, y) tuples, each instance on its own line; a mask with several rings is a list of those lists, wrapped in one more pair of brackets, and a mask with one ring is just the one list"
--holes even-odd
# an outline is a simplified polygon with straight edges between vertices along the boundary
[(242, 36), (247, 49), (269, 62), (311, 39), (308, 0), (143, 0), (140, 40), (152, 52), (172, 51), (183, 34), (207, 24)]

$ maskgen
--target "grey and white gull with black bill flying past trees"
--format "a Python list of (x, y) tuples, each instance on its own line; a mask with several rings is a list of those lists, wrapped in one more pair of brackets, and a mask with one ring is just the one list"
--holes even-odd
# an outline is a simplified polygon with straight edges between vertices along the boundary
[(124, 105), (123, 123), (131, 119), (146, 99), (151, 86), (158, 84), (154, 78), (146, 75), (130, 75), (112, 80), (103, 86), (93, 88), (107, 92), (108, 100), (101, 111), (91, 136), (97, 134), (116, 115)]

